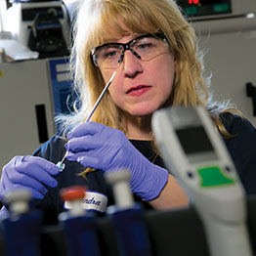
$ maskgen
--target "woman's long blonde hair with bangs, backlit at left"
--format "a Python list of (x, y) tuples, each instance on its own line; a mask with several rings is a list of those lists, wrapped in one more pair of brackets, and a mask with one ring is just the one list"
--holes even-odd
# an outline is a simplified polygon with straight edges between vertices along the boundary
[[(202, 54), (197, 49), (194, 30), (173, 0), (80, 0), (77, 11), (70, 63), (79, 109), (68, 116), (57, 117), (65, 131), (86, 120), (105, 86), (100, 69), (91, 61), (91, 50), (114, 36), (127, 33), (120, 25), (123, 23), (135, 33), (165, 34), (176, 66), (172, 93), (165, 107), (205, 106), (225, 134), (219, 113), (235, 108), (228, 103), (212, 102), (208, 94), (210, 79), (203, 75)], [(122, 116), (123, 111), (114, 105), (107, 92), (92, 120), (125, 133)]]

